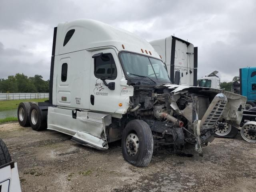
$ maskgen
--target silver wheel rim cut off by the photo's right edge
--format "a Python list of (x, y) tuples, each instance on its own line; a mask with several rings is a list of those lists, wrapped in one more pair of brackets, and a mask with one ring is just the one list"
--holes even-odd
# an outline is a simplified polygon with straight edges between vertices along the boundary
[(250, 123), (244, 124), (240, 133), (242, 138), (247, 142), (250, 142), (250, 143), (256, 142), (256, 125), (255, 124), (250, 124)]

